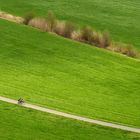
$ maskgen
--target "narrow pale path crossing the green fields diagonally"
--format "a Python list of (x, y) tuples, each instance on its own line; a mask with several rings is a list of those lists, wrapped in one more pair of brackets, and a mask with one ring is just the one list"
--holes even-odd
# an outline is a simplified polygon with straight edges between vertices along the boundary
[[(2, 97), (2, 96), (0, 96), (0, 100), (8, 102), (8, 103), (12, 103), (12, 104), (17, 104), (16, 100), (5, 98), (5, 97)], [(109, 122), (104, 122), (104, 121), (99, 121), (99, 120), (94, 120), (94, 119), (88, 119), (88, 118), (84, 118), (84, 117), (80, 117), (80, 116), (76, 116), (76, 115), (71, 115), (71, 114), (68, 114), (68, 113), (64, 113), (64, 112), (60, 112), (60, 111), (56, 111), (56, 110), (52, 110), (52, 109), (49, 109), (49, 108), (44, 108), (44, 107), (28, 104), (28, 103), (25, 103), (22, 106), (27, 107), (27, 108), (32, 108), (32, 109), (35, 109), (35, 110), (39, 110), (39, 111), (43, 111), (43, 112), (47, 112), (47, 113), (51, 113), (51, 114), (55, 114), (55, 115), (59, 115), (59, 116), (63, 116), (63, 117), (66, 117), (66, 118), (71, 118), (71, 119), (75, 119), (75, 120), (80, 120), (80, 121), (85, 121), (85, 122), (89, 122), (89, 123), (93, 123), (93, 124), (102, 125), (102, 126), (107, 126), (107, 127), (112, 127), (112, 128), (122, 129), (122, 130), (126, 130), (126, 131), (140, 133), (140, 128), (133, 128), (133, 127), (113, 124), (113, 123), (109, 123)]]

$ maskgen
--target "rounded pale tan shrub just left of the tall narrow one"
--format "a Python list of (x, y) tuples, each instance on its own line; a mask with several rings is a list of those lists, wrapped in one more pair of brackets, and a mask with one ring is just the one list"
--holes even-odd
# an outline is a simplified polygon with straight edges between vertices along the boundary
[(39, 28), (42, 31), (46, 31), (48, 27), (47, 22), (44, 18), (33, 18), (29, 21), (28, 25)]

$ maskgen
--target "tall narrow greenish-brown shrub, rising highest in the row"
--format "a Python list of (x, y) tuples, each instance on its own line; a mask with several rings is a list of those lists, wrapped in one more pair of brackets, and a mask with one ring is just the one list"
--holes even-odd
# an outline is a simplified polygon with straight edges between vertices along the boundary
[(57, 20), (56, 17), (54, 16), (53, 12), (49, 11), (48, 15), (47, 15), (47, 24), (48, 24), (48, 31), (52, 32), (54, 31), (56, 24), (57, 24)]

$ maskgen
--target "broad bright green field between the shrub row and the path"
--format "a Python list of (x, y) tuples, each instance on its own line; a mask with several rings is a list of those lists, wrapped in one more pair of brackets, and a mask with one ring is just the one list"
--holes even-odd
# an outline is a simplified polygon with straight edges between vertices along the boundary
[(0, 20), (0, 95), (140, 126), (140, 61)]

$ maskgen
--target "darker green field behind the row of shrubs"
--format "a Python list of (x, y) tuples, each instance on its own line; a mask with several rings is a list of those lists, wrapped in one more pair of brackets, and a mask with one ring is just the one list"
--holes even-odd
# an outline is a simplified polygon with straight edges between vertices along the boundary
[(15, 15), (34, 11), (46, 16), (52, 10), (60, 19), (107, 30), (114, 40), (140, 50), (139, 0), (0, 0), (0, 8)]

